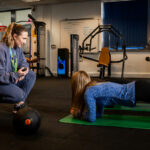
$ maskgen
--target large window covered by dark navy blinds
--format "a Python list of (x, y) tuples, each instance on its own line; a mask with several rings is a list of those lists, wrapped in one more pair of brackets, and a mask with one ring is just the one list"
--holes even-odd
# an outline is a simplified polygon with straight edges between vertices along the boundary
[[(143, 48), (147, 44), (147, 12), (147, 0), (106, 2), (103, 23), (112, 24), (123, 35), (127, 47)], [(108, 34), (104, 34), (104, 46), (115, 47), (115, 38)]]

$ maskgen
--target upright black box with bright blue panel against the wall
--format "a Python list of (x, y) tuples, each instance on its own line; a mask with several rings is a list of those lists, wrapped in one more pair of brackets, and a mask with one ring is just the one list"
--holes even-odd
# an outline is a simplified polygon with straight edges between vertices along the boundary
[(67, 48), (58, 49), (57, 74), (61, 77), (68, 77), (69, 72), (69, 50)]

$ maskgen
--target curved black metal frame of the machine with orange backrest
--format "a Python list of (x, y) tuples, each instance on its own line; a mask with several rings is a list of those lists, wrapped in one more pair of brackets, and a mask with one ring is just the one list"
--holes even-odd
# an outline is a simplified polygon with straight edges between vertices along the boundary
[[(97, 35), (100, 34), (101, 32), (108, 32), (109, 33), (109, 43), (110, 43), (110, 34), (113, 35), (115, 37), (115, 39), (117, 40), (116, 42), (116, 51), (118, 50), (119, 47), (119, 43), (122, 46), (122, 51), (123, 51), (123, 58), (121, 60), (118, 61), (110, 61), (110, 63), (121, 63), (122, 62), (122, 71), (121, 71), (121, 78), (123, 78), (124, 76), (124, 65), (125, 65), (125, 60), (127, 60), (127, 55), (126, 55), (126, 45), (125, 45), (125, 40), (122, 36), (122, 34), (115, 29), (112, 25), (99, 25), (98, 27), (96, 27), (82, 42), (82, 46), (79, 46), (80, 49), (80, 57), (92, 60), (92, 61), (96, 61), (98, 62), (98, 60), (95, 59), (91, 59), (89, 57), (86, 57), (83, 55), (84, 51), (89, 51), (91, 52), (92, 50), (95, 49), (92, 48), (92, 40), (93, 38)], [(86, 43), (87, 40), (90, 40), (90, 43)]]

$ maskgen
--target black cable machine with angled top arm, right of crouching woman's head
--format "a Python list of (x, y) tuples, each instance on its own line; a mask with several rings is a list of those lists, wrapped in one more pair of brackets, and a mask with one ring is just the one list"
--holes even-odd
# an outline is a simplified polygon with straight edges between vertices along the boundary
[[(29, 63), (30, 68), (36, 70), (37, 76), (45, 75), (45, 70), (49, 72), (51, 76), (54, 76), (50, 68), (45, 65), (45, 28), (46, 24), (41, 21), (37, 21), (30, 14), (28, 14), (30, 21), (18, 21), (28, 30), (29, 42), (28, 47), (25, 47), (24, 54), (26, 60)], [(44, 42), (43, 42), (44, 41)], [(33, 47), (35, 50), (33, 50)], [(28, 57), (27, 57), (28, 55)]]

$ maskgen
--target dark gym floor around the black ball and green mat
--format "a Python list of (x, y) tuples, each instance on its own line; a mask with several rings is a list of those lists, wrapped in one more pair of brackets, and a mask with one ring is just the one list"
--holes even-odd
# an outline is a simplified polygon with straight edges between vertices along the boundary
[(0, 150), (149, 150), (150, 130), (60, 123), (69, 114), (70, 79), (38, 78), (27, 103), (37, 109), (41, 127), (17, 134), (12, 105), (0, 104)]

